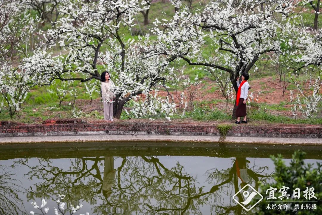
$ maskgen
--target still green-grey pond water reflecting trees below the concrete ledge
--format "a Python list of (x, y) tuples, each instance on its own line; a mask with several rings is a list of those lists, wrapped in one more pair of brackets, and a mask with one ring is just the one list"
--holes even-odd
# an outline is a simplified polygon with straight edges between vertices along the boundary
[[(0, 145), (0, 214), (57, 208), (76, 214), (253, 214), (232, 196), (245, 184), (273, 181), (270, 155), (289, 163), (297, 149), (322, 161), (322, 146), (227, 143), (33, 143)], [(70, 205), (68, 205), (70, 206)], [(66, 206), (65, 206), (66, 208)], [(69, 213), (67, 213), (69, 214)]]

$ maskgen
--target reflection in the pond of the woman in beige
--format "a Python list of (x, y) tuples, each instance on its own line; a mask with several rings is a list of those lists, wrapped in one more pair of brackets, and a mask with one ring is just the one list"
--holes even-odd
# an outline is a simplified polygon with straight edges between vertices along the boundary
[(115, 181), (114, 157), (105, 157), (104, 175), (103, 175), (103, 195), (105, 198), (112, 193), (112, 187)]

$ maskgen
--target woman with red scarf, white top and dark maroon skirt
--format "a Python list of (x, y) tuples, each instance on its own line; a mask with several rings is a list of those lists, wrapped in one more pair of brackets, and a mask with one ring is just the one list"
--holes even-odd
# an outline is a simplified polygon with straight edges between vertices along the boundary
[(247, 80), (249, 79), (249, 75), (247, 73), (242, 73), (242, 82), (239, 83), (239, 77), (237, 78), (237, 86), (238, 86), (238, 92), (237, 92), (237, 97), (236, 97), (236, 116), (237, 116), (237, 121), (235, 122), (236, 124), (240, 124), (240, 118), (241, 116), (244, 117), (242, 120), (243, 123), (247, 123), (246, 119), (246, 100), (248, 96), (248, 88), (249, 88), (249, 83)]

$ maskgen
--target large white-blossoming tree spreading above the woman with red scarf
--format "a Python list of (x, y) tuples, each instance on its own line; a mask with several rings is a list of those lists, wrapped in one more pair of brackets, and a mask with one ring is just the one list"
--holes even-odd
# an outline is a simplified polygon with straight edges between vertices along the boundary
[[(280, 52), (280, 23), (292, 13), (293, 0), (265, 2), (245, 0), (226, 3), (211, 1), (202, 12), (182, 10), (165, 23), (156, 20), (155, 44), (147, 44), (148, 54), (168, 55), (193, 66), (208, 66), (230, 74), (237, 92), (236, 78), (248, 73), (260, 56)], [(205, 47), (208, 52), (205, 52)], [(233, 110), (233, 117), (234, 117)]]

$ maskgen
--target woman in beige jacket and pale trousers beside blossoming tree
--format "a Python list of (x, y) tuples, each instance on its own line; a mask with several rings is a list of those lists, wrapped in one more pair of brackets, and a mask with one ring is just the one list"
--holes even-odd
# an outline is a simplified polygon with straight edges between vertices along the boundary
[(104, 107), (104, 120), (113, 122), (113, 103), (115, 99), (115, 85), (109, 76), (109, 72), (102, 73), (101, 82), (102, 100)]

